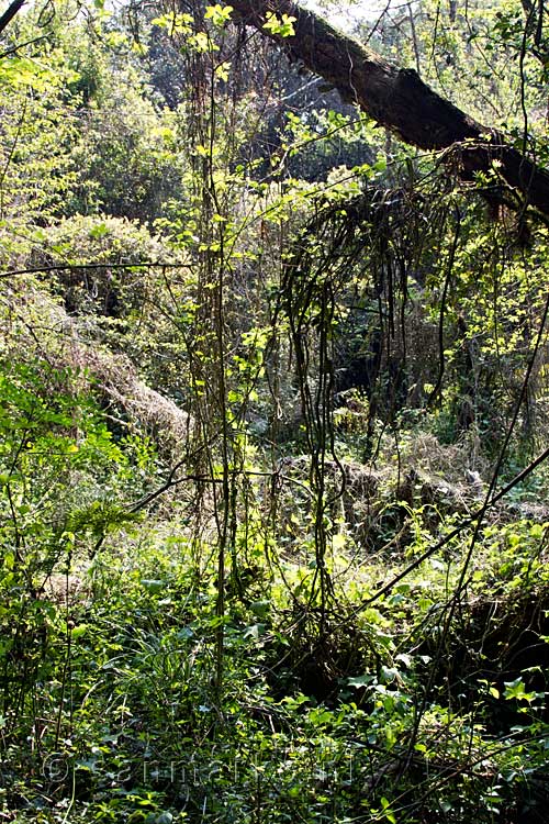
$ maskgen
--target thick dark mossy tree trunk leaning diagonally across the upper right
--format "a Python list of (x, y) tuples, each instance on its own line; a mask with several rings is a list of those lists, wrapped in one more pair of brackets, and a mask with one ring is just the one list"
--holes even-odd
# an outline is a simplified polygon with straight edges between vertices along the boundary
[[(466, 180), (497, 172), (523, 203), (549, 218), (549, 174), (513, 146), (504, 136), (441, 98), (414, 69), (388, 63), (312, 11), (291, 0), (231, 0), (236, 15), (258, 29), (311, 71), (330, 82), (344, 100), (357, 103), (380, 125), (402, 141), (424, 149), (458, 145), (458, 170)], [(268, 12), (295, 18), (295, 34), (280, 37), (264, 29)]]

